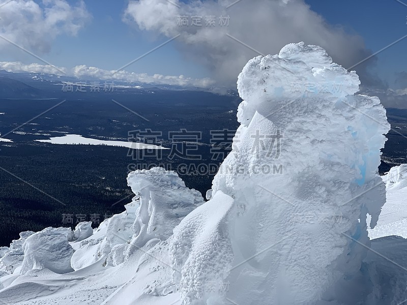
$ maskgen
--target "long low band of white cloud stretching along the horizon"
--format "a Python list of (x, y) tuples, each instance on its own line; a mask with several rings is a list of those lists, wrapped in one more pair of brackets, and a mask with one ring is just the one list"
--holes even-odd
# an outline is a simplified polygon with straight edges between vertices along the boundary
[(146, 73), (134, 73), (127, 71), (103, 70), (96, 67), (75, 66), (72, 69), (64, 67), (55, 67), (40, 64), (23, 64), (21, 62), (0, 62), (0, 70), (9, 72), (36, 72), (50, 73), (61, 75), (61, 71), (65, 72), (66, 76), (74, 76), (80, 79), (98, 79), (98, 80), (115, 80), (133, 83), (147, 84), (168, 84), (178, 86), (196, 86), (200, 88), (208, 88), (215, 84), (210, 78), (190, 78), (184, 75), (148, 75)]

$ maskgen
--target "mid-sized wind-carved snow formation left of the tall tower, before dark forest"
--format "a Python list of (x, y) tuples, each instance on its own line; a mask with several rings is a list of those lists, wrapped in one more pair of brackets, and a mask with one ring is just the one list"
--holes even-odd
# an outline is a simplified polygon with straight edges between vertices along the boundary
[(104, 221), (93, 236), (80, 243), (71, 262), (75, 270), (97, 261), (104, 266), (123, 263), (151, 239), (167, 239), (203, 202), (198, 191), (188, 189), (175, 172), (163, 168), (131, 172), (128, 185), (135, 194), (133, 201), (125, 212)]

